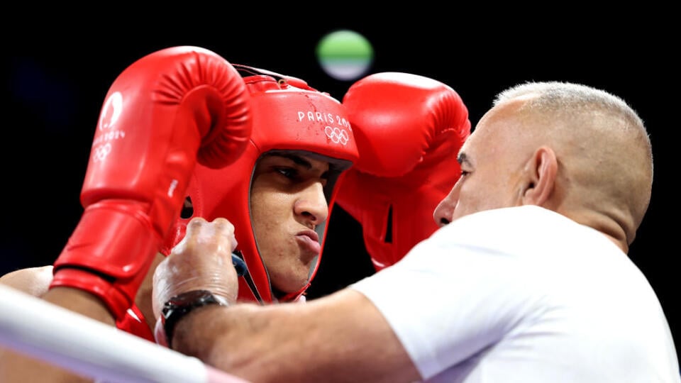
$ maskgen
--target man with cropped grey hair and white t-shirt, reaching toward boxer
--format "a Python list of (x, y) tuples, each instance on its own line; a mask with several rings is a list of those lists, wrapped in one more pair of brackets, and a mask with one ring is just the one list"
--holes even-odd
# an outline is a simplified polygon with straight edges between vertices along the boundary
[[(635, 111), (581, 84), (521, 84), (458, 160), (436, 233), (305, 305), (233, 304), (236, 272), (215, 267), (233, 226), (192, 221), (155, 272), (159, 336), (253, 382), (680, 382), (663, 309), (627, 256), (653, 181)], [(187, 299), (197, 290), (229, 303)], [(177, 305), (189, 309), (169, 315)]]

